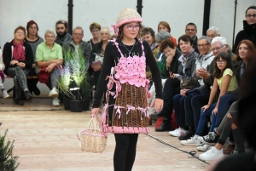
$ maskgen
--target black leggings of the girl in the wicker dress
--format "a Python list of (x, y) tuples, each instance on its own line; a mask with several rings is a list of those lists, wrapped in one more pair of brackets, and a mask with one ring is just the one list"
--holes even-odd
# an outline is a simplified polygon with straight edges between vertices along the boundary
[(138, 134), (114, 134), (115, 150), (113, 154), (114, 171), (131, 171), (136, 157)]

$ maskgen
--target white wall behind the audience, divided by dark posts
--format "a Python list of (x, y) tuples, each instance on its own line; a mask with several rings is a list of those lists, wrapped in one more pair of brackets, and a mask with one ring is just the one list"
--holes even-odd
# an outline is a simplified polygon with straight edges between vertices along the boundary
[[(221, 35), (231, 44), (234, 20), (235, 0), (212, 0), (210, 26), (218, 26)], [(13, 39), (17, 26), (25, 26), (29, 20), (35, 20), (39, 27), (39, 36), (44, 31), (55, 28), (57, 20), (67, 20), (68, 0), (1, 0), (0, 1), (0, 46)], [(248, 6), (255, 0), (238, 0), (236, 16), (236, 33), (242, 29), (241, 20)], [(73, 27), (84, 28), (84, 40), (90, 39), (90, 23), (98, 22), (101, 26), (110, 27), (115, 24), (122, 9), (137, 9), (137, 0), (73, 0)], [(143, 25), (157, 31), (161, 20), (167, 21), (172, 29), (173, 37), (184, 34), (184, 27), (189, 22), (197, 25), (198, 37), (201, 37), (203, 25), (204, 0), (144, 0)], [(6, 88), (13, 85), (11, 79), (4, 83)], [(49, 89), (39, 83), (44, 92)]]

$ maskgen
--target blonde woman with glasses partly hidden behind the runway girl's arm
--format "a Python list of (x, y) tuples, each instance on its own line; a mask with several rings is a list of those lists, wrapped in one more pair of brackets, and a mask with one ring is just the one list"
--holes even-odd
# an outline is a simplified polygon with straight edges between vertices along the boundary
[(103, 62), (105, 48), (108, 44), (108, 40), (111, 37), (110, 30), (108, 29), (108, 27), (103, 27), (100, 32), (101, 32), (102, 41), (95, 44), (94, 48), (91, 51), (91, 56), (90, 56), (90, 67), (93, 71), (95, 86), (97, 86), (98, 79), (102, 71), (102, 65), (103, 65), (102, 62)]

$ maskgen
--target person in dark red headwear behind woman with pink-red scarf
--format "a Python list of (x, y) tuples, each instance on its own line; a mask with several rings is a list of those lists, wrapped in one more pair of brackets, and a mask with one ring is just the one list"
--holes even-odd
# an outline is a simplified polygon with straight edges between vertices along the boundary
[[(36, 60), (36, 50), (38, 47), (38, 44), (43, 43), (44, 39), (42, 37), (38, 36), (38, 24), (34, 20), (30, 20), (26, 24), (26, 37), (25, 41), (29, 43), (33, 50), (33, 59)], [(35, 64), (32, 64), (32, 69), (30, 71), (30, 76), (35, 75), (34, 71)], [(32, 92), (36, 95), (40, 94), (40, 90), (37, 87), (38, 79), (27, 79), (27, 86), (28, 90), (32, 94)]]

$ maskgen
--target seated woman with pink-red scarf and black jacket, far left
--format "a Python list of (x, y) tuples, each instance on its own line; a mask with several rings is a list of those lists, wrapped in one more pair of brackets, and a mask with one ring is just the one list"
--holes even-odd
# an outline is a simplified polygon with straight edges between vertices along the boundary
[(15, 38), (11, 42), (5, 43), (3, 47), (4, 73), (14, 77), (15, 104), (17, 105), (24, 105), (20, 99), (21, 91), (24, 91), (27, 100), (32, 98), (32, 94), (27, 88), (26, 77), (34, 60), (31, 46), (24, 42), (25, 35), (25, 28), (18, 26), (15, 29)]

